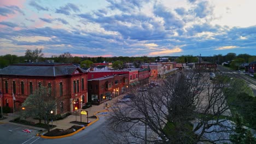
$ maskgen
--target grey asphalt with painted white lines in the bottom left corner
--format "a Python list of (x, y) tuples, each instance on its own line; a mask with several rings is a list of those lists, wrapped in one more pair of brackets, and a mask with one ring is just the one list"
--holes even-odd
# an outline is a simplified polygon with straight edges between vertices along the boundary
[(9, 123), (0, 123), (0, 143), (33, 143), (40, 139), (40, 137), (36, 136), (38, 132), (39, 131), (36, 129), (30, 129)]

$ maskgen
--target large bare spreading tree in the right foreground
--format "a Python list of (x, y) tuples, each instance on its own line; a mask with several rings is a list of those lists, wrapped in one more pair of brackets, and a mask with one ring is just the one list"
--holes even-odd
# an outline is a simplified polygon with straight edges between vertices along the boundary
[(206, 133), (231, 133), (209, 128), (224, 127), (230, 116), (226, 93), (235, 92), (229, 79), (209, 79), (208, 73), (193, 71), (162, 80), (159, 87), (131, 92), (129, 103), (115, 103), (108, 117), (109, 143), (196, 143), (222, 141), (204, 139)]

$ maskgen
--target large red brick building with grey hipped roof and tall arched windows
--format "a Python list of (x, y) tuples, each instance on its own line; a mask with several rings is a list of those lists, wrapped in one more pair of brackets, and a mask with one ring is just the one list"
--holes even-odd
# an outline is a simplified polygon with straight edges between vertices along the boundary
[[(55, 113), (74, 111), (88, 101), (87, 71), (72, 64), (21, 63), (0, 70), (3, 105), (20, 109), (25, 99), (40, 86), (50, 87), (56, 97)], [(13, 100), (13, 93), (16, 100)]]

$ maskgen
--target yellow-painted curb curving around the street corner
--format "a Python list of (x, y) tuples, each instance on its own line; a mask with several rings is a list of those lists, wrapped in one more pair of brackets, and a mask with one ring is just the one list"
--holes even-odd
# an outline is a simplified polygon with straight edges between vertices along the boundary
[[(94, 116), (96, 116), (97, 113), (106, 112), (106, 111), (108, 111), (108, 110), (102, 110), (102, 111), (95, 112), (95, 113), (94, 113)], [(86, 127), (89, 127), (91, 124), (97, 122), (98, 119), (99, 119), (98, 116), (96, 116), (95, 121), (90, 122), (89, 124), (87, 124)], [(63, 137), (68, 137), (68, 136), (72, 136), (72, 135), (74, 135), (74, 134), (77, 134), (79, 131), (84, 130), (86, 127), (81, 127), (80, 129), (75, 130), (73, 133), (69, 133), (69, 134), (66, 134), (66, 135), (60, 135), (60, 136), (45, 136), (47, 133), (41, 135), (41, 134), (42, 134), (42, 132), (41, 132), (41, 133), (37, 134), (37, 136), (40, 136), (40, 137), (42, 137), (42, 138), (44, 138), (44, 139), (60, 139), (60, 138), (63, 138)], [(44, 133), (44, 132), (43, 132), (43, 133)]]

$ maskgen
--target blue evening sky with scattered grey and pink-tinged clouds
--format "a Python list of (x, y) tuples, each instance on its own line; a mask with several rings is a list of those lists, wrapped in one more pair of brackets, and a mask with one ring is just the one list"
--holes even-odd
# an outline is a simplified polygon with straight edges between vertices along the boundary
[(0, 0), (0, 56), (256, 55), (255, 0)]

